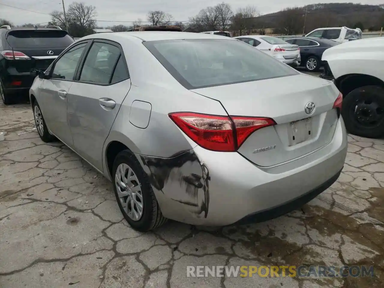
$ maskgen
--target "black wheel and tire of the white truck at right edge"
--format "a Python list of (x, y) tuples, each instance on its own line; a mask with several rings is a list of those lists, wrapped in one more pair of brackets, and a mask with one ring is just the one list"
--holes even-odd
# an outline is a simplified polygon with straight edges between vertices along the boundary
[(384, 135), (384, 88), (363, 86), (349, 92), (341, 111), (346, 129), (356, 136), (379, 138)]

